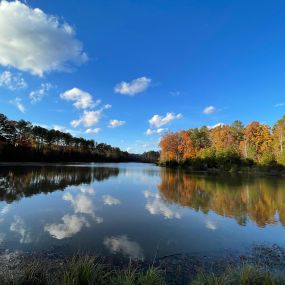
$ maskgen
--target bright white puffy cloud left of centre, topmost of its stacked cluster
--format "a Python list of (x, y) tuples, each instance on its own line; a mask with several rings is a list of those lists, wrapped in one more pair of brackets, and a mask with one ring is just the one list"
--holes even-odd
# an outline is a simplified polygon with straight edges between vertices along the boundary
[(101, 100), (97, 100), (93, 103), (91, 94), (76, 87), (60, 94), (60, 98), (66, 101), (74, 101), (73, 105), (77, 109), (87, 109), (101, 103)]

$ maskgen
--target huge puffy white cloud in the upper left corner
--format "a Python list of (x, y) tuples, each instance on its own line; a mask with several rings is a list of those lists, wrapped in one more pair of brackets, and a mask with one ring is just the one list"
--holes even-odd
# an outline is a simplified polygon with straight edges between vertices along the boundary
[(0, 65), (42, 76), (86, 60), (69, 24), (21, 1), (0, 2)]

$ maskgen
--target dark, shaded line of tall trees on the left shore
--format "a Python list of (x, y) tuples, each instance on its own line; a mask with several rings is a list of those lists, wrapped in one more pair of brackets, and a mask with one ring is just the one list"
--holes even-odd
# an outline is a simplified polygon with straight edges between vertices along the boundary
[(0, 114), (0, 161), (30, 162), (155, 162), (157, 152), (131, 154), (118, 147), (74, 137)]

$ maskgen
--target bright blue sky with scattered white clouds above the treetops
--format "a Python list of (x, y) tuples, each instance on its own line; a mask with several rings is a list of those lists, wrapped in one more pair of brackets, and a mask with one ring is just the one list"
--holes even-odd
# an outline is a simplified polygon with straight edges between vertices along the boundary
[(167, 130), (285, 114), (284, 1), (0, 3), (11, 119), (143, 152)]

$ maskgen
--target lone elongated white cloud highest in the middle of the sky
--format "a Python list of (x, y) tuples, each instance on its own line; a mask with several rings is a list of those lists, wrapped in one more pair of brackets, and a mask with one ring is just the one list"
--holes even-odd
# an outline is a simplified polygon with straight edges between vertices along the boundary
[(116, 93), (134, 96), (137, 93), (145, 91), (149, 87), (150, 83), (151, 79), (143, 76), (134, 79), (131, 82), (122, 81), (115, 86), (114, 90)]

